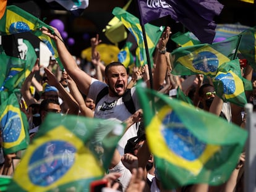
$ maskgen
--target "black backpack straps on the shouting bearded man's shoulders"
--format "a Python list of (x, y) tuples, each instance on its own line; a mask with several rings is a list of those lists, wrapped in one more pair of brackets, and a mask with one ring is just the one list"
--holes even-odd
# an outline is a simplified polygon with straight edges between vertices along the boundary
[[(98, 93), (95, 106), (98, 104), (100, 99), (102, 99), (106, 94), (108, 94), (108, 86), (105, 86), (100, 93)], [(127, 89), (126, 92), (122, 95), (122, 102), (126, 106), (126, 109), (130, 112), (130, 114), (135, 113), (134, 101), (132, 101), (132, 95), (130, 94), (130, 89)]]

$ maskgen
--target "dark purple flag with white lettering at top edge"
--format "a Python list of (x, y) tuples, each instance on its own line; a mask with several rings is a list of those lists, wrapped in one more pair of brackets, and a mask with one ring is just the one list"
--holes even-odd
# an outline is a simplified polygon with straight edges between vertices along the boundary
[(142, 23), (150, 22), (166, 15), (181, 22), (197, 36), (201, 43), (212, 43), (216, 23), (213, 18), (219, 15), (223, 5), (216, 0), (138, 0)]

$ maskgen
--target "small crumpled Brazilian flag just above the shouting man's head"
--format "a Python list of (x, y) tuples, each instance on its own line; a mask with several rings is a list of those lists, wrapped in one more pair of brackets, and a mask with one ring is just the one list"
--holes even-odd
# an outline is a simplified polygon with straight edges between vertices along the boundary
[(132, 42), (127, 41), (117, 55), (118, 61), (121, 62), (126, 68), (134, 63), (134, 56), (132, 55), (132, 52), (130, 52), (131, 47)]

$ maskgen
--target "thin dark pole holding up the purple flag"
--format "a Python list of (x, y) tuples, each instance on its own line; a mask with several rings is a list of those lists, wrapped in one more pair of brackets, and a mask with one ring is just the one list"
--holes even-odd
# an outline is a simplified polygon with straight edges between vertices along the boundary
[(139, 9), (140, 26), (142, 27), (143, 41), (144, 41), (145, 51), (146, 51), (146, 56), (147, 56), (148, 72), (150, 75), (150, 88), (153, 89), (153, 75), (152, 75), (152, 70), (151, 70), (150, 54), (148, 52), (147, 36), (146, 36), (144, 23), (142, 22), (142, 15), (140, 14), (141, 13), (140, 4), (139, 4), (138, 0), (136, 2), (137, 2), (137, 7)]

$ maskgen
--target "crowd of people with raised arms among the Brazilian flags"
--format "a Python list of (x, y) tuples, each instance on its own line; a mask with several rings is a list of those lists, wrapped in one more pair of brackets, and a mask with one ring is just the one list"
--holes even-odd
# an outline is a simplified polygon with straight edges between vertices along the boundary
[[(189, 97), (195, 107), (218, 115), (241, 128), (245, 127), (244, 108), (223, 102), (216, 96), (211, 78), (202, 74), (191, 75), (191, 77), (171, 74), (170, 52), (166, 51), (166, 44), (171, 36), (170, 27), (166, 27), (156, 46), (151, 71), (152, 81), (150, 81), (147, 65), (134, 66), (128, 70), (121, 62), (117, 61), (103, 64), (100, 53), (97, 51), (97, 46), (101, 43), (98, 35), (91, 39), (92, 64), (95, 70), (92, 75), (77, 65), (56, 28), (54, 28), (54, 33), (45, 27), (41, 28), (41, 31), (55, 41), (64, 70), (59, 69), (56, 60), (50, 59), (49, 66), (44, 69), (45, 73), (41, 75), (40, 80), (37, 80), (35, 73), (40, 71), (39, 60), (37, 60), (32, 72), (23, 82), (21, 91), (22, 101), (25, 105), (22, 106), (30, 125), (30, 141), (40, 130), (40, 125), (49, 112), (99, 119), (116, 119), (121, 123), (125, 122), (126, 131), (117, 144), (108, 172), (103, 178), (108, 182), (103, 191), (164, 191), (155, 169), (153, 154), (147, 145), (143, 111), (140, 109), (135, 91), (138, 80), (145, 81), (148, 88), (152, 83), (153, 90), (167, 94), (170, 98), (176, 97), (179, 88)], [(241, 70), (243, 77), (251, 81), (254, 87), (253, 91), (247, 91), (246, 94), (247, 101), (252, 102), (255, 106), (254, 71), (250, 65)], [(131, 101), (128, 107), (124, 101), (124, 95), (127, 94)], [(4, 166), (10, 167), (10, 161), (16, 155), (5, 156)], [(234, 168), (231, 177), (221, 186), (198, 183), (181, 186), (172, 191), (242, 191), (244, 152), (241, 153), (237, 162), (239, 164)], [(12, 173), (3, 172), (3, 174)]]

